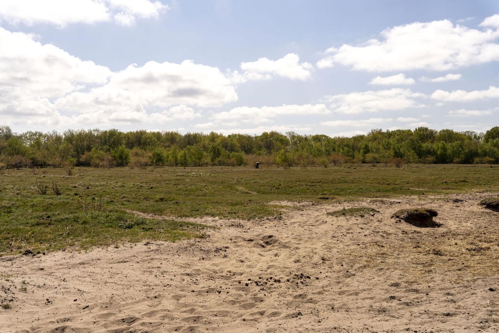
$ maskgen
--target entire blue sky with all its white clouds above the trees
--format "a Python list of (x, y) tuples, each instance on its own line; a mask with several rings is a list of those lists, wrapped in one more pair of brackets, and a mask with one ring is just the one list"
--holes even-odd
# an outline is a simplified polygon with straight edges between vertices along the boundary
[(497, 0), (0, 0), (0, 125), (499, 125)]

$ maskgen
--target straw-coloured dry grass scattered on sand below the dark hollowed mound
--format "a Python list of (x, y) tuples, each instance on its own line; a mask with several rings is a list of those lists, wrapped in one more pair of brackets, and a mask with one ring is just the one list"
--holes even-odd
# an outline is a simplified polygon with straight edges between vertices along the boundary
[[(492, 228), (492, 229), (491, 229)], [(455, 232), (437, 229), (394, 234), (383, 242), (360, 244), (345, 252), (344, 261), (356, 270), (393, 269), (404, 272), (411, 282), (421, 283), (435, 277), (451, 281), (499, 275), (499, 227), (490, 226)]]

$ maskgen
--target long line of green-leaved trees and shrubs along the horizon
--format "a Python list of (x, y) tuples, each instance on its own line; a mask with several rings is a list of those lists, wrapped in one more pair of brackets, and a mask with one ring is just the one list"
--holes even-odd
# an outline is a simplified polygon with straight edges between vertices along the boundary
[(349, 163), (499, 163), (499, 127), (486, 133), (452, 129), (373, 129), (330, 137), (271, 131), (260, 135), (79, 129), (14, 133), (0, 126), (0, 169), (90, 166), (284, 167)]

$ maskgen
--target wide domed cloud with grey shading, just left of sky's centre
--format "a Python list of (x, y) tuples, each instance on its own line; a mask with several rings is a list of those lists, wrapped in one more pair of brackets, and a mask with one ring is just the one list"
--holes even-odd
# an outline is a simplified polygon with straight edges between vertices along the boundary
[(221, 106), (238, 99), (235, 87), (216, 67), (149, 61), (114, 73), (109, 82), (88, 92), (73, 92), (55, 101), (59, 109), (80, 112), (143, 110), (176, 104)]

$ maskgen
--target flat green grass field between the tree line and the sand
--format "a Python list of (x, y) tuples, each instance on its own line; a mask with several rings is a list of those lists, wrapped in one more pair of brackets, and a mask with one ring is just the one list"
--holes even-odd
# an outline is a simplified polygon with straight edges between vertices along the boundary
[[(76, 168), (0, 175), (0, 254), (175, 241), (204, 225), (175, 218), (257, 219), (281, 214), (273, 201), (356, 200), (499, 191), (489, 165), (341, 165), (329, 168)], [(52, 184), (61, 192), (56, 195)], [(37, 187), (47, 188), (45, 195)], [(139, 216), (131, 211), (167, 218)]]

